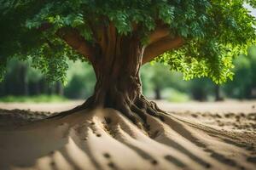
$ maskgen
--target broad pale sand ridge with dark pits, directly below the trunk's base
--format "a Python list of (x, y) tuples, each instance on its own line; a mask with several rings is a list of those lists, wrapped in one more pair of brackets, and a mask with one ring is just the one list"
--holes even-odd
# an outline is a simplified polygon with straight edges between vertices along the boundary
[(87, 148), (102, 169), (150, 169), (150, 165), (136, 151), (113, 139), (102, 123), (104, 118), (95, 116), (88, 132)]

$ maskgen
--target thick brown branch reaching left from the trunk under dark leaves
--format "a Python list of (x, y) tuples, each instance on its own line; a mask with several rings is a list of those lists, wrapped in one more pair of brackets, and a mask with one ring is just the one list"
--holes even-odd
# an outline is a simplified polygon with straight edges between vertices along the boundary
[(56, 35), (62, 40), (67, 42), (67, 44), (74, 50), (79, 52), (79, 54), (84, 55), (90, 62), (93, 61), (94, 50), (89, 42), (84, 40), (84, 37), (79, 35), (79, 31), (73, 28), (61, 28), (56, 32)]

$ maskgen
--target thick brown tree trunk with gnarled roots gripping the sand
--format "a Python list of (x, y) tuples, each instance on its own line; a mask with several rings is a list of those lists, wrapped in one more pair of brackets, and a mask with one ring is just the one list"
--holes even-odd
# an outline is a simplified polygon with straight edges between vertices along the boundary
[(144, 47), (137, 33), (132, 36), (117, 36), (113, 26), (109, 26), (92, 65), (96, 73), (94, 94), (84, 105), (65, 111), (94, 108), (113, 108), (127, 116), (138, 127), (147, 127), (146, 114), (163, 120), (160, 109), (143, 97), (139, 70), (143, 62)]

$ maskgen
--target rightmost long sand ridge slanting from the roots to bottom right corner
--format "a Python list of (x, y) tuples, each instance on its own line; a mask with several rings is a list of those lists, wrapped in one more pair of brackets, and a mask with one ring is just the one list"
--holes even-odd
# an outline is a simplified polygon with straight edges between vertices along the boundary
[[(179, 121), (175, 116), (165, 116), (166, 124), (174, 131), (179, 133), (183, 138), (201, 147), (207, 151), (216, 161), (222, 162), (236, 169), (253, 169), (254, 165), (246, 161), (247, 151), (233, 144), (228, 144), (222, 139), (213, 138), (203, 131), (189, 126), (189, 123)], [(217, 131), (214, 130), (214, 133)], [(235, 154), (236, 153), (236, 154)]]

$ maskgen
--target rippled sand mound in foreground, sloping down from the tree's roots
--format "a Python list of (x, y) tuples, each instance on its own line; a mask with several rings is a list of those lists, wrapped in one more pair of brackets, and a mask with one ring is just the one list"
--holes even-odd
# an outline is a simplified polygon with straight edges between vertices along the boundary
[(174, 114), (143, 131), (119, 111), (79, 111), (1, 128), (0, 169), (255, 169), (256, 135)]

